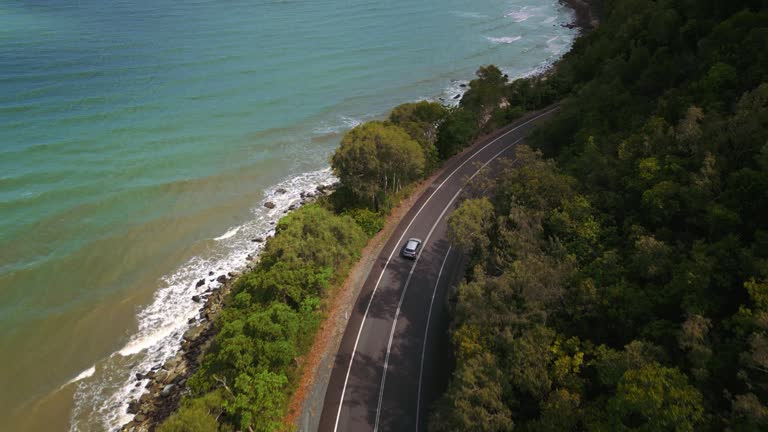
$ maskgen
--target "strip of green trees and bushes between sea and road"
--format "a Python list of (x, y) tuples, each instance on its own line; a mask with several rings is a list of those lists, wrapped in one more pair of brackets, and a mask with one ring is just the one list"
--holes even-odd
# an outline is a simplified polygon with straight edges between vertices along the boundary
[(282, 423), (287, 403), (330, 296), (413, 185), (494, 127), (488, 113), (504, 82), (486, 67), (470, 84), (472, 103), (408, 103), (345, 134), (331, 157), (340, 187), (277, 224), (258, 263), (235, 282), (211, 348), (160, 432), (291, 428)]

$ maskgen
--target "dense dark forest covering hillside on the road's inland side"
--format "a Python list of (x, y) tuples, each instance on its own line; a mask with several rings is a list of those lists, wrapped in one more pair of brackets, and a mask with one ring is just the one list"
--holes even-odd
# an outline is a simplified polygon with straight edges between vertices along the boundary
[(450, 218), (432, 431), (768, 430), (768, 4), (603, 3), (550, 75), (486, 82), (490, 124), (565, 99)]

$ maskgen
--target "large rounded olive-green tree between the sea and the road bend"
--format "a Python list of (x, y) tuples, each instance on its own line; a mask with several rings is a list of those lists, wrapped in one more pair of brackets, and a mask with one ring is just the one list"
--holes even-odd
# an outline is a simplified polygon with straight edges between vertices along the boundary
[(401, 128), (373, 121), (344, 135), (331, 158), (342, 184), (378, 210), (382, 194), (397, 192), (424, 172), (424, 153)]

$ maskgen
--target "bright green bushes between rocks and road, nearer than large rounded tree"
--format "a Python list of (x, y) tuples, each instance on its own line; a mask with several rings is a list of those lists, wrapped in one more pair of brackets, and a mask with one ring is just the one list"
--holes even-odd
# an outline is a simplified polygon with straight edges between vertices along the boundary
[(297, 359), (320, 323), (322, 299), (366, 239), (352, 218), (317, 204), (281, 219), (259, 263), (233, 286), (213, 347), (188, 381), (198, 398), (162, 427), (216, 430), (210, 425), (219, 417), (239, 430), (279, 430)]

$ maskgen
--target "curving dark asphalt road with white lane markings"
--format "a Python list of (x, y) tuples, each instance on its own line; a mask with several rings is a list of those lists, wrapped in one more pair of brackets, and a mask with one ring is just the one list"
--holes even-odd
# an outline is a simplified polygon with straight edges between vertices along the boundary
[[(331, 372), (319, 430), (425, 430), (428, 409), (451, 370), (448, 288), (462, 257), (446, 219), (465, 183), (511, 156), (554, 108), (526, 116), (451, 160), (392, 233), (366, 279)], [(423, 240), (415, 260), (400, 256), (408, 238)]]

